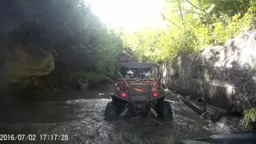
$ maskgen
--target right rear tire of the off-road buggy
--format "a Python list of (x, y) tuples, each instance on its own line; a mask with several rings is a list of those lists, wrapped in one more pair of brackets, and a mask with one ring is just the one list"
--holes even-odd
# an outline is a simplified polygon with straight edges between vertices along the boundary
[(170, 102), (162, 102), (162, 106), (159, 108), (158, 113), (160, 118), (162, 118), (162, 121), (170, 122), (173, 119)]

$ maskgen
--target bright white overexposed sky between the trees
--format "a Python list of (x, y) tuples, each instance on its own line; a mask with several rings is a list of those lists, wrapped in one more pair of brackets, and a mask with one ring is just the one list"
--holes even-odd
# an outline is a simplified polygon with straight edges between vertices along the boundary
[(87, 0), (94, 14), (109, 26), (122, 27), (126, 31), (144, 26), (158, 26), (162, 17), (163, 0)]

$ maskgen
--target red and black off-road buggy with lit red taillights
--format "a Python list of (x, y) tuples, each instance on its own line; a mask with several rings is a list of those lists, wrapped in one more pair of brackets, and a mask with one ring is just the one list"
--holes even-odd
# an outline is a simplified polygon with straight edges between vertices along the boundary
[(146, 117), (149, 113), (163, 121), (172, 120), (171, 106), (164, 100), (166, 94), (160, 86), (161, 75), (156, 64), (121, 63), (118, 75), (114, 94), (110, 94), (112, 102), (106, 106), (106, 120), (138, 114)]

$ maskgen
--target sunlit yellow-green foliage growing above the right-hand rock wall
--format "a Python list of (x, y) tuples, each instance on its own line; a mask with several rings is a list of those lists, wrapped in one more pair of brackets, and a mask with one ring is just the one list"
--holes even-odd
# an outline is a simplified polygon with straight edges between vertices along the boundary
[(251, 30), (255, 7), (253, 0), (166, 0), (162, 15), (168, 26), (145, 28), (123, 39), (140, 61), (166, 61)]

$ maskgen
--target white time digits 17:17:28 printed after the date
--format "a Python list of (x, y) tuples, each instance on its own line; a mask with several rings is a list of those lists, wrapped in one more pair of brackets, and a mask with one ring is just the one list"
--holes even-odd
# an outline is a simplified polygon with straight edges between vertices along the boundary
[(68, 134), (40, 134), (41, 141), (67, 141), (69, 140)]

